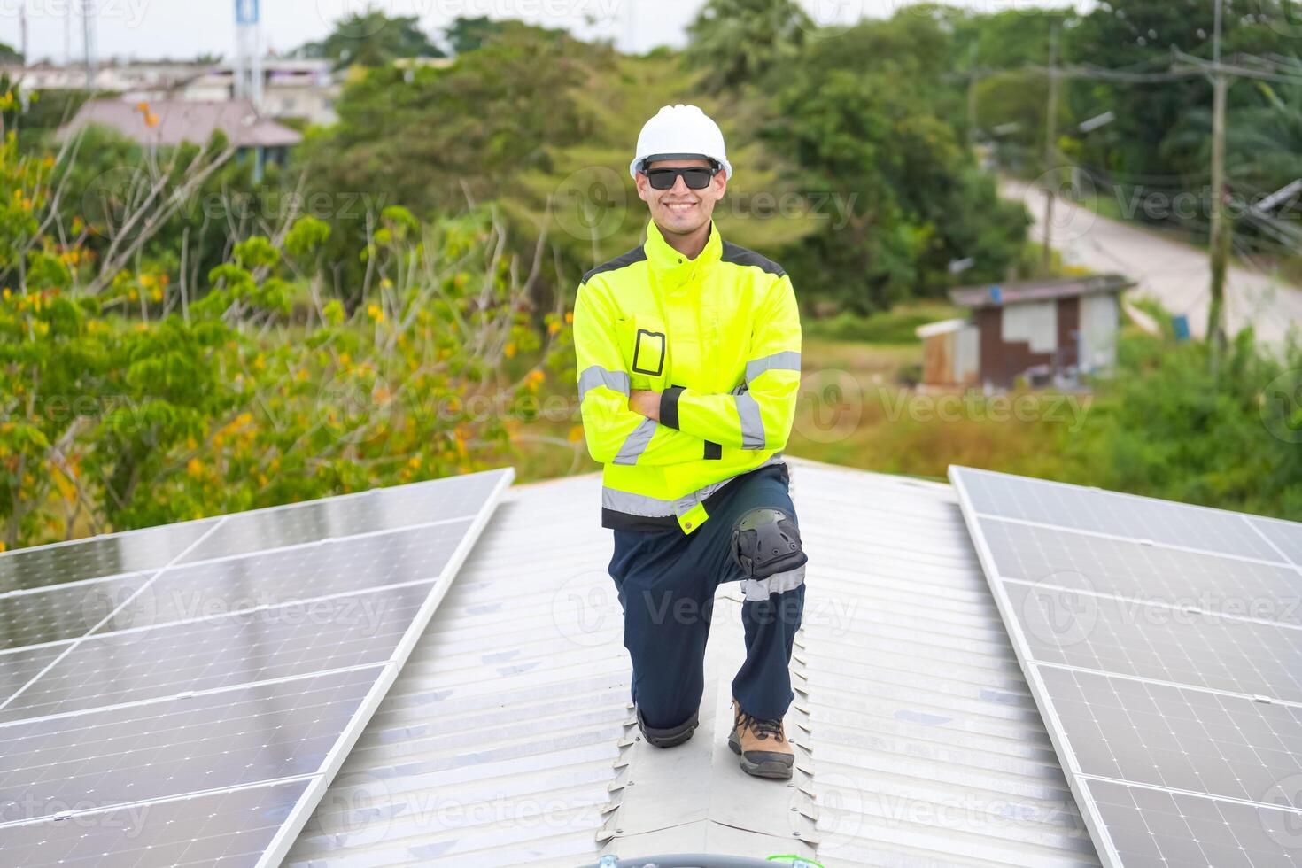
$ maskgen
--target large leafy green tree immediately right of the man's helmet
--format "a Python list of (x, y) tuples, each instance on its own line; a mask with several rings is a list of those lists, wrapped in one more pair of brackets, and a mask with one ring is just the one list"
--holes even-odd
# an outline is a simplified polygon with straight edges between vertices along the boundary
[(944, 120), (949, 95), (930, 70), (948, 51), (936, 18), (906, 10), (814, 40), (777, 90), (768, 141), (815, 190), (854, 203), (786, 258), (816, 294), (871, 312), (940, 294), (952, 260), (975, 259), (976, 281), (1016, 262), (1023, 208), (999, 199)]

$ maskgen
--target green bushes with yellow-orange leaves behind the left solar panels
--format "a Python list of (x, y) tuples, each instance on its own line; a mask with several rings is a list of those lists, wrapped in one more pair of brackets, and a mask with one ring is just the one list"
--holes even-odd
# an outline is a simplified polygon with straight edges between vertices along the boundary
[(529, 414), (473, 400), (535, 393), (543, 368), (510, 381), (508, 362), (569, 355), (560, 321), (546, 344), (530, 321), (482, 212), (387, 210), (352, 312), (320, 301), (329, 226), (310, 216), (284, 247), (233, 243), (189, 305), (151, 271), (83, 294), (94, 256), (34, 225), (51, 167), (12, 135), (0, 150), (0, 250), (26, 278), (0, 290), (0, 548), (483, 467)]

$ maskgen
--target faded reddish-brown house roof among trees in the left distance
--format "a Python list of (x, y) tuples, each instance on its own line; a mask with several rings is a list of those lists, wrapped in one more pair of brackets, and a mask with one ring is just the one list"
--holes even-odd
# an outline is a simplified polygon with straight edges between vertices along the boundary
[[(81, 107), (59, 138), (100, 124), (116, 129), (141, 144), (173, 146), (182, 142), (206, 143), (212, 133), (223, 130), (240, 147), (288, 147), (302, 142), (302, 135), (288, 126), (259, 117), (249, 100), (152, 100), (142, 105), (117, 99), (96, 99)], [(158, 122), (150, 126), (146, 115)]]

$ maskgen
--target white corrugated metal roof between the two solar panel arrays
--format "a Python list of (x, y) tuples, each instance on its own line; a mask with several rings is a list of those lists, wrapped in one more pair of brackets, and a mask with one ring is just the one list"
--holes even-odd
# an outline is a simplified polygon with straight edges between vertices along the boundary
[(575, 476), (506, 492), (285, 864), (1098, 865), (950, 488), (789, 463), (810, 554), (789, 783), (724, 743), (736, 584), (695, 737), (637, 738), (600, 479)]

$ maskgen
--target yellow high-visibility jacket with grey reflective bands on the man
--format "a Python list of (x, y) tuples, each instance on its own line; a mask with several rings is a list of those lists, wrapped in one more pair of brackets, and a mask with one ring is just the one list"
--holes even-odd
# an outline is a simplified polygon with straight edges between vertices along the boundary
[[(691, 534), (730, 479), (783, 463), (801, 380), (796, 293), (713, 223), (695, 259), (651, 221), (644, 245), (587, 272), (574, 351), (604, 527)], [(661, 393), (659, 423), (629, 409), (633, 389)]]

